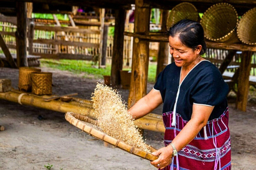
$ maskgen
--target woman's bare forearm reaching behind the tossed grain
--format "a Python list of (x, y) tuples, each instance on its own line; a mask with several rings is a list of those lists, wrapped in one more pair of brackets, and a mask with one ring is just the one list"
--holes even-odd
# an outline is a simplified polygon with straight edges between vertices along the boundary
[(137, 120), (140, 117), (153, 111), (157, 106), (163, 103), (161, 93), (152, 89), (146, 96), (142, 97), (137, 103), (135, 103), (129, 112), (132, 117)]

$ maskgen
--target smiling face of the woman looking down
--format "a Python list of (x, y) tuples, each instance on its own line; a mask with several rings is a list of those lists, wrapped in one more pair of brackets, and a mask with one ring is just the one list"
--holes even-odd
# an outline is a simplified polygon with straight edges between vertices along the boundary
[(196, 49), (189, 48), (181, 43), (179, 36), (169, 36), (170, 54), (173, 56), (175, 64), (178, 67), (194, 66), (199, 61), (199, 53), (202, 46), (198, 45)]

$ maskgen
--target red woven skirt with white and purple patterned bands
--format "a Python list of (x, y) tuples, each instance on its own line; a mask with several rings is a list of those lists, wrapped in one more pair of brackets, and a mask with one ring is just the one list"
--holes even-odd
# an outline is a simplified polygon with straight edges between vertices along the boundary
[[(179, 114), (176, 114), (176, 125), (173, 127), (172, 112), (163, 114), (165, 124), (165, 146), (169, 145), (176, 135), (188, 123), (184, 121)], [(201, 169), (231, 169), (231, 147), (230, 133), (228, 129), (228, 108), (217, 119), (207, 122), (206, 134), (202, 129), (197, 136), (186, 147), (178, 152), (178, 156), (172, 158), (171, 165), (165, 167), (165, 170), (201, 170)], [(207, 140), (205, 140), (207, 135)]]

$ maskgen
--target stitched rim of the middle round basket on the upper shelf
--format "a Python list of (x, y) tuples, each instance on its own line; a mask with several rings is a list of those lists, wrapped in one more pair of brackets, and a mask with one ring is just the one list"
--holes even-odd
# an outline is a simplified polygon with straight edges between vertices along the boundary
[(202, 25), (202, 21), (203, 21), (203, 18), (204, 18), (204, 16), (205, 16), (205, 13), (208, 12), (209, 10), (211, 10), (211, 8), (213, 8), (213, 7), (215, 7), (215, 6), (219, 6), (219, 5), (228, 5), (228, 6), (230, 6), (230, 7), (233, 8), (233, 10), (234, 10), (234, 12), (235, 12), (235, 14), (236, 14), (236, 26), (235, 26), (229, 33), (227, 33), (225, 36), (222, 36), (221, 38), (214, 38), (214, 39), (213, 39), (213, 38), (210, 38), (210, 37), (207, 37), (206, 35), (204, 35), (204, 37), (205, 37), (206, 39), (209, 39), (209, 40), (211, 40), (211, 41), (219, 41), (219, 40), (222, 40), (222, 39), (224, 39), (224, 38), (227, 38), (228, 36), (231, 35), (231, 33), (235, 32), (235, 30), (236, 30), (236, 28), (237, 28), (237, 25), (238, 25), (238, 20), (239, 20), (239, 19), (238, 19), (237, 11), (236, 11), (236, 9), (235, 9), (235, 7), (234, 7), (233, 5), (228, 4), (228, 3), (218, 3), (218, 4), (214, 4), (214, 5), (210, 6), (210, 7), (204, 12), (204, 14), (203, 14), (203, 16), (202, 16), (202, 18), (201, 18), (200, 24)]

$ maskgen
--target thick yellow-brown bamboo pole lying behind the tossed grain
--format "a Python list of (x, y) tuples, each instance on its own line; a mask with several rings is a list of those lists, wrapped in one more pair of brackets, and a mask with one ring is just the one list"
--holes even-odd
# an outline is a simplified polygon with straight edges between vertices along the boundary
[[(95, 119), (92, 103), (89, 100), (74, 98), (75, 101), (69, 103), (62, 102), (60, 100), (52, 100), (49, 102), (44, 101), (49, 96), (36, 96), (26, 93), (22, 95), (22, 92), (18, 90), (12, 90), (9, 92), (0, 93), (0, 99), (12, 101), (15, 103), (21, 103), (22, 105), (29, 105), (44, 109), (49, 109), (56, 112), (74, 112), (90, 118)], [(134, 124), (140, 129), (151, 130), (156, 132), (165, 132), (165, 127), (161, 116), (156, 114), (148, 114), (136, 121)]]

